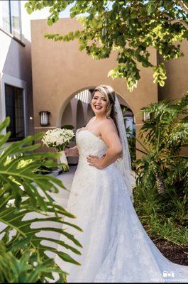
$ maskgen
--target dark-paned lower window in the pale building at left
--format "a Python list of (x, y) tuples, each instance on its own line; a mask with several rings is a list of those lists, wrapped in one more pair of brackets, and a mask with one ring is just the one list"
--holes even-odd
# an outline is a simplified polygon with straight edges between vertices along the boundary
[(24, 138), (23, 89), (5, 84), (6, 116), (11, 123), (6, 131), (11, 131), (9, 140)]

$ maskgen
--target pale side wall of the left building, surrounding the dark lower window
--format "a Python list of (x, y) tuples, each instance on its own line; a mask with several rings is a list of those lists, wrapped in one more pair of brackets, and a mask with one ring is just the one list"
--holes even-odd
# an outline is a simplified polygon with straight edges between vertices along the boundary
[(25, 46), (0, 30), (0, 120), (5, 118), (4, 84), (22, 87), (26, 94), (26, 135), (33, 133), (31, 42), (24, 39)]

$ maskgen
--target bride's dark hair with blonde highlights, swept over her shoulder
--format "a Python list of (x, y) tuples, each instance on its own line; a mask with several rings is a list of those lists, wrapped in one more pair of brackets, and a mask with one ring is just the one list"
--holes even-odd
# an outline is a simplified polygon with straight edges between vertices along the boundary
[[(107, 113), (106, 113), (106, 117), (109, 119), (109, 117), (111, 117), (111, 119), (114, 120), (114, 124), (116, 125), (116, 129), (118, 131), (118, 125), (116, 122), (116, 116), (115, 116), (115, 111), (114, 111), (114, 104), (115, 104), (115, 99), (116, 99), (116, 94), (114, 92), (114, 89), (111, 86), (108, 85), (104, 85), (101, 84), (100, 86), (97, 86), (94, 89), (94, 92), (92, 93), (92, 97), (94, 97), (95, 92), (98, 91), (101, 94), (104, 94), (104, 97), (106, 97), (106, 102), (107, 102)], [(118, 136), (119, 136), (119, 132), (118, 132)]]

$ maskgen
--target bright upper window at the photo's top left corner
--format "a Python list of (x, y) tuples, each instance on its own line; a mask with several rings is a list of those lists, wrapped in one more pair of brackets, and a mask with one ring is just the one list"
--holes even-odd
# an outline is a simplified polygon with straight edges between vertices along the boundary
[(2, 21), (5, 31), (21, 40), (21, 4), (20, 1), (1, 1)]

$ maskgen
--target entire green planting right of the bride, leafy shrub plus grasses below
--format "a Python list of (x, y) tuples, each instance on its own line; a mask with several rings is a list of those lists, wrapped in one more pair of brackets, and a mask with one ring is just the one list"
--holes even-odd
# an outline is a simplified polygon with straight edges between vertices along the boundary
[[(141, 112), (152, 114), (140, 129), (143, 153), (136, 160), (135, 207), (155, 239), (188, 244), (188, 93), (177, 102), (165, 99)], [(159, 195), (158, 193), (162, 193)]]

